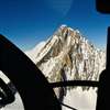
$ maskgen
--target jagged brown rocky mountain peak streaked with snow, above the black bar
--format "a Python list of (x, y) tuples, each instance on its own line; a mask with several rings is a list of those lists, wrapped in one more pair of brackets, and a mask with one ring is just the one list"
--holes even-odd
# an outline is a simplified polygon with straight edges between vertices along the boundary
[(36, 46), (26, 54), (51, 82), (98, 80), (106, 68), (106, 51), (98, 50), (78, 30), (62, 25), (42, 44), (38, 51)]

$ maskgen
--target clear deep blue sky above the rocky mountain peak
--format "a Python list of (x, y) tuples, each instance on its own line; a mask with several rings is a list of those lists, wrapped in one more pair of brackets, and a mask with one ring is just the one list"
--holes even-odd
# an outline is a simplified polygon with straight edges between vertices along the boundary
[(110, 15), (95, 7), (95, 0), (0, 0), (0, 33), (26, 51), (67, 24), (105, 46)]

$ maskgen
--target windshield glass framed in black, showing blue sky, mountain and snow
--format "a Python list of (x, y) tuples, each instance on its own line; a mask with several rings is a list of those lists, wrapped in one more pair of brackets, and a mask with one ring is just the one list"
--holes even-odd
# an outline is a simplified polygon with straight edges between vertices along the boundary
[[(1, 34), (31, 58), (50, 82), (99, 80), (106, 68), (110, 16), (96, 11), (95, 0), (1, 0), (0, 13)], [(95, 110), (97, 89), (54, 91), (70, 107)]]

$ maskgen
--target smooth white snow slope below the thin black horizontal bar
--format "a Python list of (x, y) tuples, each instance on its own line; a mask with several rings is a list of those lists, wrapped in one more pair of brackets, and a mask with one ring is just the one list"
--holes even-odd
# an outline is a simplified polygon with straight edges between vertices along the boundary
[[(64, 97), (64, 103), (76, 108), (77, 110), (96, 110), (97, 94), (96, 89), (82, 91), (80, 87), (67, 91)], [(63, 110), (72, 110), (63, 107)]]

